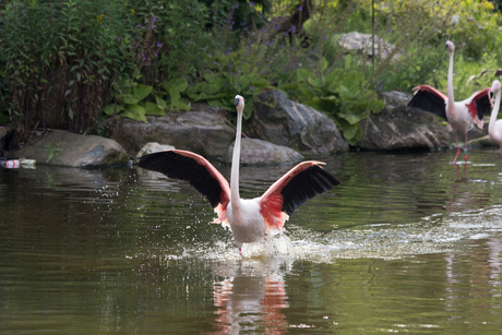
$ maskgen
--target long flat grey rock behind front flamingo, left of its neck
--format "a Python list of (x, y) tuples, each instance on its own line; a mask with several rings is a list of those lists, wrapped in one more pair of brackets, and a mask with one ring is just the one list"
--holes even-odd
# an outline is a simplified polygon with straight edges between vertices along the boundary
[(236, 136), (235, 130), (211, 109), (146, 119), (146, 123), (121, 119), (111, 134), (132, 156), (146, 143), (158, 142), (208, 157), (222, 157)]

